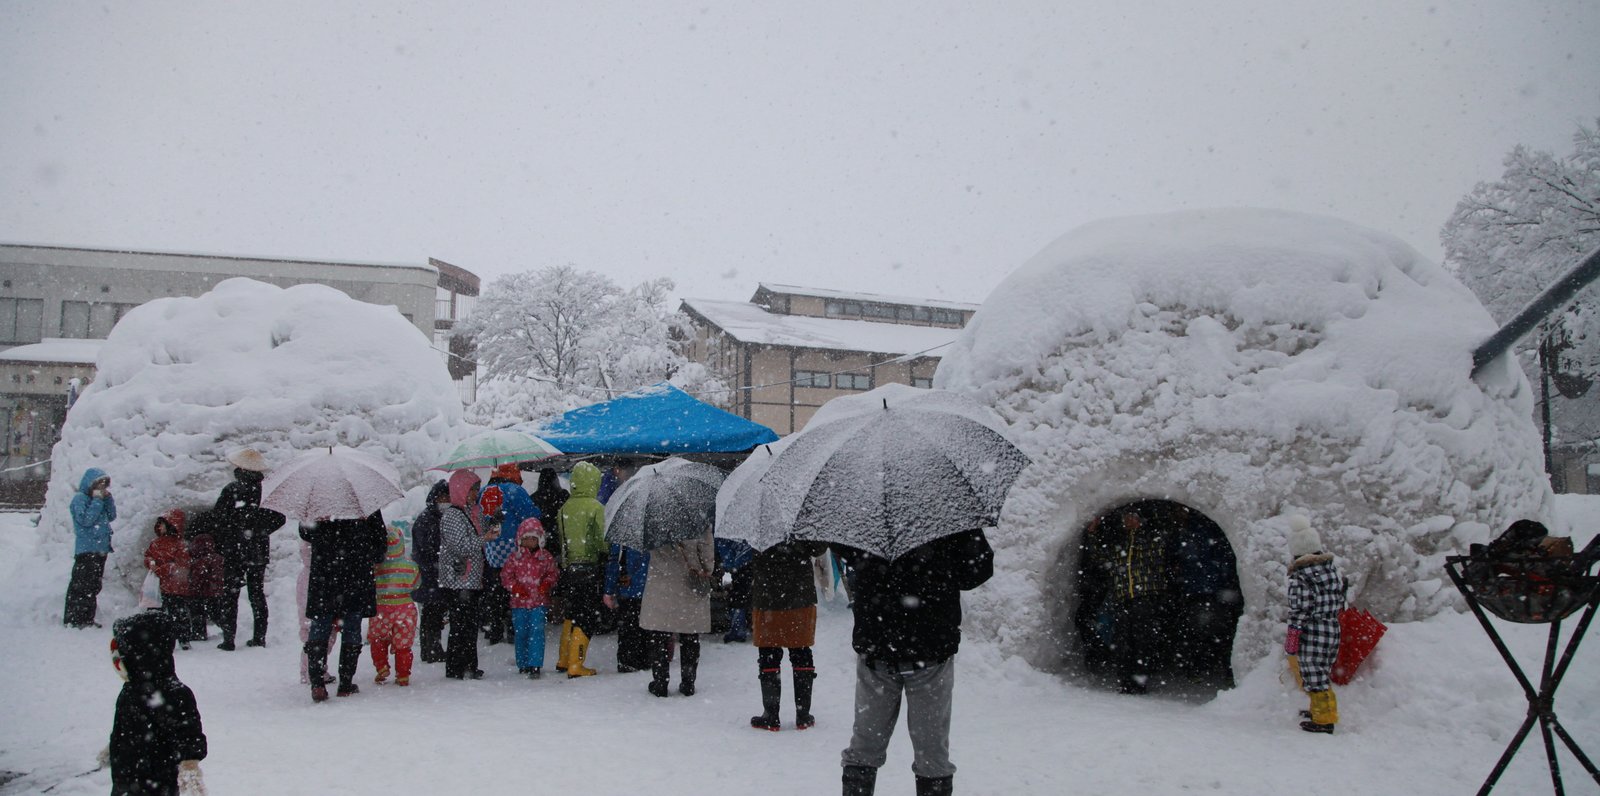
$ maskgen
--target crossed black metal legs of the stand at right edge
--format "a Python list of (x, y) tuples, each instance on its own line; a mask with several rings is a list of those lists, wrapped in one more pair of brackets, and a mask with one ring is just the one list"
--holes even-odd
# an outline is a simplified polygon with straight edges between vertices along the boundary
[(1483, 606), (1478, 604), (1478, 598), (1474, 588), (1461, 577), (1461, 566), (1469, 561), (1469, 556), (1448, 556), (1445, 558), (1445, 571), (1450, 572), (1450, 580), (1456, 583), (1456, 588), (1464, 598), (1467, 598), (1467, 606), (1472, 614), (1478, 617), (1478, 623), (1483, 625), (1483, 631), (1488, 633), (1490, 641), (1494, 643), (1494, 649), (1499, 651), (1501, 659), (1510, 667), (1510, 673), (1517, 676), (1517, 683), (1522, 686), (1523, 694), (1528, 697), (1528, 718), (1523, 719), (1522, 727), (1510, 738), (1506, 751), (1501, 754), (1499, 761), (1494, 764), (1494, 770), (1490, 772), (1490, 778), (1483, 780), (1483, 786), (1478, 788), (1478, 796), (1485, 796), (1494, 790), (1494, 783), (1499, 780), (1501, 774), (1506, 772), (1506, 766), (1522, 748), (1522, 742), (1526, 740), (1528, 732), (1533, 730), (1533, 724), (1539, 722), (1539, 734), (1544, 737), (1544, 756), (1550, 766), (1550, 783), (1555, 786), (1555, 794), (1563, 796), (1566, 790), (1562, 786), (1562, 769), (1555, 761), (1555, 740), (1550, 737), (1562, 738), (1562, 743), (1578, 758), (1578, 762), (1589, 772), (1597, 783), (1600, 783), (1600, 770), (1595, 764), (1584, 754), (1584, 750), (1578, 748), (1578, 742), (1562, 727), (1562, 722), (1555, 718), (1555, 689), (1560, 687), (1562, 678), (1566, 676), (1566, 667), (1573, 662), (1573, 654), (1578, 652), (1578, 644), (1584, 639), (1584, 631), (1589, 630), (1589, 622), (1595, 617), (1595, 609), (1600, 607), (1600, 590), (1589, 596), (1587, 606), (1582, 609), (1582, 619), (1578, 620), (1578, 631), (1566, 639), (1566, 651), (1562, 652), (1560, 662), (1555, 660), (1555, 654), (1560, 649), (1562, 636), (1562, 620), (1550, 622), (1550, 641), (1544, 647), (1544, 668), (1539, 675), (1539, 689), (1534, 691), (1528, 676), (1523, 675), (1522, 667), (1517, 665), (1517, 659), (1512, 657), (1510, 649), (1501, 641), (1499, 633), (1494, 631), (1494, 625), (1490, 623), (1488, 615), (1483, 612)]

